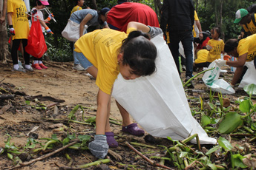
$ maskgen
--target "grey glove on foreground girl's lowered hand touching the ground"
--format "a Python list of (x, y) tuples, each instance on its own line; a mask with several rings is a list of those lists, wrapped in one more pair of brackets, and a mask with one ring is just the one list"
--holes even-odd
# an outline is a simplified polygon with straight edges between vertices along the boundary
[(105, 135), (95, 135), (94, 140), (89, 143), (91, 153), (100, 159), (108, 154), (108, 143)]

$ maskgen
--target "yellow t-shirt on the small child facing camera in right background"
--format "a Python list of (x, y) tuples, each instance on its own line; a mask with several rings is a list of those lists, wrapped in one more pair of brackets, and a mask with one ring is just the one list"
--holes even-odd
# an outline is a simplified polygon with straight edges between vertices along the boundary
[(212, 47), (207, 56), (207, 62), (212, 62), (216, 59), (220, 59), (220, 54), (224, 50), (224, 42), (222, 39), (214, 40), (210, 39), (207, 43)]

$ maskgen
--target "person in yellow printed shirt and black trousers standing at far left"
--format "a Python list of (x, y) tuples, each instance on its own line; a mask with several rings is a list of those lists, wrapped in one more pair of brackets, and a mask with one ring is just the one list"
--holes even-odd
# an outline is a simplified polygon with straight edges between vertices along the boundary
[[(13, 71), (26, 72), (33, 71), (30, 67), (30, 55), (26, 52), (27, 38), (30, 32), (27, 8), (22, 0), (8, 0), (7, 1), (7, 19), (10, 28), (10, 35), (12, 35), (13, 46), (11, 49), (11, 55), (13, 59)], [(24, 69), (19, 67), (17, 51), (19, 44), (22, 41), (22, 47), (24, 50)], [(25, 70), (26, 69), (26, 70)]]

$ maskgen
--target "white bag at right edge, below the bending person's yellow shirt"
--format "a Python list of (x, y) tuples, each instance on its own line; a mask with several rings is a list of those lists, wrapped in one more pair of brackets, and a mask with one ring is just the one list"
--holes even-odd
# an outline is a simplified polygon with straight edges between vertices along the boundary
[(243, 79), (238, 87), (243, 88), (247, 84), (256, 84), (256, 67), (254, 61), (246, 62), (246, 67), (248, 67), (246, 74), (243, 75)]

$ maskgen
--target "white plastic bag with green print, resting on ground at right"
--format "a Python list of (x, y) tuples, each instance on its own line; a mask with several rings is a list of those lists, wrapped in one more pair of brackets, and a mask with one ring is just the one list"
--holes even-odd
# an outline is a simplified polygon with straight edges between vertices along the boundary
[[(211, 69), (215, 67), (214, 69)], [(219, 79), (220, 67), (217, 66), (215, 61), (209, 65), (208, 72), (203, 75), (203, 83), (206, 84), (213, 92), (221, 92), (222, 94), (234, 94), (235, 91), (232, 86), (229, 85), (223, 79)]]

